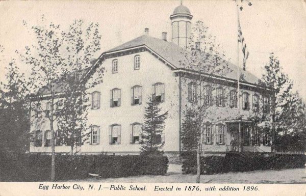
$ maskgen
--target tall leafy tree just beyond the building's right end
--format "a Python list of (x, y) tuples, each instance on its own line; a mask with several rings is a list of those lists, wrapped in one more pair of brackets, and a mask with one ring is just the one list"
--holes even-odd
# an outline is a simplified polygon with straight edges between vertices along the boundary
[(288, 98), (292, 93), (293, 83), (283, 72), (279, 60), (273, 53), (270, 54), (269, 59), (269, 63), (264, 67), (265, 73), (262, 75), (261, 85), (274, 91), (274, 93), (270, 95), (270, 101), (267, 100), (269, 102), (267, 105), (269, 106), (270, 113), (266, 117), (271, 122), (271, 151), (273, 152), (277, 135), (276, 131), (282, 128), (282, 122), (285, 120), (282, 115), (285, 114), (283, 113), (283, 109), (284, 106), (288, 104)]

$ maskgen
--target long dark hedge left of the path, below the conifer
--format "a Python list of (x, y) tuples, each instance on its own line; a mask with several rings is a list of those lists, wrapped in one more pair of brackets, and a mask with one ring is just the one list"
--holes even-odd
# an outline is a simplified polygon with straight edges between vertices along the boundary
[[(1, 160), (3, 158), (3, 156), (0, 157)], [(5, 177), (0, 177), (0, 181), (50, 180), (50, 155), (19, 156), (17, 162), (23, 165), (20, 168), (14, 164), (13, 159), (0, 161), (0, 171), (6, 172)], [(56, 155), (56, 180), (84, 179), (89, 177), (89, 173), (98, 174), (101, 178), (165, 175), (167, 170), (168, 158), (166, 156)]]

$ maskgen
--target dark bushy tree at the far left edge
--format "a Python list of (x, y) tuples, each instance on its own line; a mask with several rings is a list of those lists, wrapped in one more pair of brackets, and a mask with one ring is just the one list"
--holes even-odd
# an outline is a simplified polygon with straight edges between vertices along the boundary
[(29, 148), (29, 94), (24, 74), (15, 59), (5, 68), (5, 82), (0, 83), (0, 145), (5, 151), (25, 153)]

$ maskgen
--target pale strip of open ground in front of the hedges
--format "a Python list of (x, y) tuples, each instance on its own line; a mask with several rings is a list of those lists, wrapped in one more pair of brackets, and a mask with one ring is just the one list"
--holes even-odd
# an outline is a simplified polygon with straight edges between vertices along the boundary
[[(127, 178), (87, 178), (80, 182), (145, 182), (145, 183), (195, 183), (195, 175), (183, 175), (181, 165), (170, 164), (166, 176), (134, 176)], [(71, 182), (75, 180), (71, 180)], [(226, 174), (202, 175), (202, 183), (283, 183), (306, 184), (305, 169), (265, 170), (252, 172), (230, 172)]]

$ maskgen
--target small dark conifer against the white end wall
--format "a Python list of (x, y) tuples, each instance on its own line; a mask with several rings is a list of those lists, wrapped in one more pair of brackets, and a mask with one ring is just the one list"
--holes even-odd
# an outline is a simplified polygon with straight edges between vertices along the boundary
[(144, 125), (142, 127), (141, 155), (161, 155), (164, 146), (162, 134), (168, 112), (160, 114), (160, 101), (149, 98), (146, 102)]

